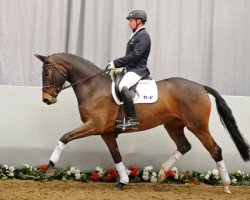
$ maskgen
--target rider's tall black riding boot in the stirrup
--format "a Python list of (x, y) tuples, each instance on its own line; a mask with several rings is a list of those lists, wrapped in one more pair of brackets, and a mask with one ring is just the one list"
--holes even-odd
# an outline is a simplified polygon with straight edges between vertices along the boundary
[(121, 129), (137, 129), (138, 122), (136, 120), (135, 106), (127, 87), (122, 88), (121, 96), (124, 103), (125, 113), (128, 116), (128, 121), (125, 122), (125, 124), (119, 124), (116, 127)]

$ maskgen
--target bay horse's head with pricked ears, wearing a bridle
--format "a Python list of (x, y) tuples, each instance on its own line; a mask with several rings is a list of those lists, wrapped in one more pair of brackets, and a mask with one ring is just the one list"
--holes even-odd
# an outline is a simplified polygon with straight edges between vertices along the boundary
[(52, 61), (52, 57), (38, 54), (35, 54), (35, 56), (43, 62), (43, 102), (48, 105), (56, 103), (57, 96), (61, 92), (67, 76), (62, 71), (61, 66)]

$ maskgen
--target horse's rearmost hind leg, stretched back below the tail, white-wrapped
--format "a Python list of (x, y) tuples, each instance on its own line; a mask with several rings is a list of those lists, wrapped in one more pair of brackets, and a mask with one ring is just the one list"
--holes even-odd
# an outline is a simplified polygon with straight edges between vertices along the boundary
[(231, 193), (229, 190), (230, 185), (230, 178), (227, 172), (227, 168), (225, 166), (225, 163), (222, 159), (222, 150), (219, 147), (218, 144), (214, 141), (213, 137), (211, 136), (208, 127), (206, 128), (197, 128), (190, 130), (192, 131), (196, 137), (201, 141), (203, 146), (209, 151), (212, 158), (215, 160), (218, 171), (221, 176), (221, 180), (224, 185), (224, 191), (227, 193)]

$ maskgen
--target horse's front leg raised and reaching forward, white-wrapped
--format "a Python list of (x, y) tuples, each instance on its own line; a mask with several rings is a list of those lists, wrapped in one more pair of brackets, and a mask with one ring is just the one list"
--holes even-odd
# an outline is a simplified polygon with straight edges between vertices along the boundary
[(91, 123), (91, 121), (86, 122), (85, 124), (83, 124), (82, 126), (80, 126), (79, 128), (64, 134), (61, 139), (58, 141), (51, 157), (50, 157), (50, 161), (48, 164), (48, 169), (52, 169), (55, 164), (58, 162), (61, 152), (64, 149), (65, 145), (75, 139), (78, 138), (83, 138), (89, 135), (95, 135), (96, 134), (96, 129), (93, 126), (93, 123)]

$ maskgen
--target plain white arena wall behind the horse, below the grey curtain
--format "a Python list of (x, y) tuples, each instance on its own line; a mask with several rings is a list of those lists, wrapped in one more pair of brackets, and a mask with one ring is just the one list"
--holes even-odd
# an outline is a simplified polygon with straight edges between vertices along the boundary
[[(54, 105), (42, 103), (41, 88), (0, 86), (0, 164), (39, 166), (48, 163), (57, 141), (70, 130), (81, 125), (73, 90), (59, 94)], [(232, 109), (238, 126), (250, 141), (250, 97), (224, 96)], [(210, 130), (223, 150), (229, 172), (240, 169), (250, 172), (250, 162), (243, 162), (229, 134), (223, 128), (213, 102)], [(215, 162), (199, 140), (189, 131), (186, 136), (192, 149), (175, 166), (181, 170), (206, 172), (216, 167)], [(141, 133), (119, 135), (118, 145), (124, 163), (140, 168), (160, 165), (176, 150), (163, 126)], [(58, 167), (75, 166), (93, 170), (97, 166), (114, 167), (111, 155), (100, 136), (91, 136), (70, 142), (64, 149)]]

